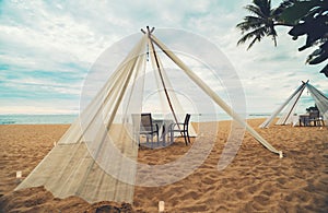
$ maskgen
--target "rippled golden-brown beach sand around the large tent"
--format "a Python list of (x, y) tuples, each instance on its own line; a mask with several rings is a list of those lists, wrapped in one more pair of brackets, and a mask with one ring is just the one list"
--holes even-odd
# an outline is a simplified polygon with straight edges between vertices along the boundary
[[(160, 200), (165, 201), (165, 212), (328, 212), (328, 128), (258, 129), (261, 121), (248, 122), (283, 151), (282, 159), (246, 133), (233, 162), (218, 170), (231, 131), (230, 121), (222, 121), (218, 134), (210, 132), (215, 144), (199, 168), (172, 185), (136, 187), (132, 206), (89, 204), (77, 197), (57, 199), (43, 187), (13, 191), (19, 185), (16, 170), (23, 177), (31, 173), (69, 126), (0, 126), (0, 212), (157, 212)], [(138, 161), (165, 164), (189, 149), (183, 142), (161, 150), (141, 149)]]

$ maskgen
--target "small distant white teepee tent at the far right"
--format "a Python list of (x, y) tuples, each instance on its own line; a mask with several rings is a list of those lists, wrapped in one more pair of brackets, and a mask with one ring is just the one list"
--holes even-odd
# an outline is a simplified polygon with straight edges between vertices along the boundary
[[(296, 106), (300, 102), (300, 98), (304, 92), (304, 90), (307, 88), (311, 96), (313, 97), (320, 115), (323, 115), (323, 119), (328, 119), (328, 98), (325, 96), (324, 93), (315, 88), (313, 85), (311, 85), (307, 82), (302, 82), (302, 84), (294, 91), (294, 93), (259, 127), (260, 128), (268, 128), (274, 120), (274, 118), (282, 111), (282, 116), (277, 121), (276, 125), (291, 125), (293, 123), (293, 115), (295, 113)], [(295, 123), (293, 123), (295, 125)]]

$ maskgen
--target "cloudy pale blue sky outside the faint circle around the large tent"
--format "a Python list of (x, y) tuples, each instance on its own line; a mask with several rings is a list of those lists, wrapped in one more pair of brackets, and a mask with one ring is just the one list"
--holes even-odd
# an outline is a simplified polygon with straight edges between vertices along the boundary
[(248, 3), (0, 0), (0, 114), (78, 114), (92, 64), (147, 25), (192, 32), (213, 43), (236, 70), (248, 113), (274, 110), (301, 81), (328, 94), (327, 79), (318, 72), (323, 66), (305, 64), (313, 49), (298, 52), (304, 38), (292, 40), (289, 28), (277, 28), (277, 47), (270, 38), (248, 51), (247, 45), (236, 45), (235, 26), (248, 14), (243, 9)]

